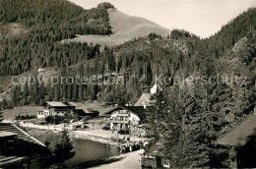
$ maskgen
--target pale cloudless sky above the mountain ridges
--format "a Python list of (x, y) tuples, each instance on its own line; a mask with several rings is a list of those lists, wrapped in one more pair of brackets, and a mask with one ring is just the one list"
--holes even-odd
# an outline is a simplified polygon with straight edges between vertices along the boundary
[(117, 10), (142, 17), (158, 25), (182, 28), (201, 37), (208, 37), (250, 7), (256, 0), (70, 0), (91, 9), (101, 2), (110, 2)]

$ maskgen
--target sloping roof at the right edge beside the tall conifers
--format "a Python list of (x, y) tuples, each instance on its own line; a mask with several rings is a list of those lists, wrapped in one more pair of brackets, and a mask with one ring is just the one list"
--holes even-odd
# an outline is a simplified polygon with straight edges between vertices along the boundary
[(217, 143), (231, 146), (242, 146), (256, 130), (256, 114), (249, 116), (242, 123), (220, 138)]

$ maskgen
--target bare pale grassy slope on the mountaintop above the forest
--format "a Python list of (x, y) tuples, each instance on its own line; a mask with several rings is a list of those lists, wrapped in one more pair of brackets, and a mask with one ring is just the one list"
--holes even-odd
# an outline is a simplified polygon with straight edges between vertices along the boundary
[(116, 9), (108, 9), (109, 22), (113, 28), (112, 35), (78, 35), (73, 39), (65, 39), (63, 41), (81, 41), (99, 43), (101, 46), (113, 46), (122, 44), (135, 37), (146, 36), (151, 32), (156, 32), (161, 35), (167, 35), (170, 30), (162, 28), (159, 25), (139, 17), (132, 17), (119, 12)]

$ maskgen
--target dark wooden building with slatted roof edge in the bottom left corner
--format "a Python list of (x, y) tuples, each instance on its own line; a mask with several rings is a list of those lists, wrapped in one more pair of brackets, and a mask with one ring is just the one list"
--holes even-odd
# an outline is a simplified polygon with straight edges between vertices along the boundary
[(0, 123), (0, 168), (30, 168), (30, 161), (46, 148), (18, 126)]

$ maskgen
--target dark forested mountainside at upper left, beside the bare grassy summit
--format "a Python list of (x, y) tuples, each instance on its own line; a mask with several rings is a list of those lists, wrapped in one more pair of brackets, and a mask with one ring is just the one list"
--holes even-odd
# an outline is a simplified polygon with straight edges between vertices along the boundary
[[(99, 52), (96, 44), (59, 41), (77, 33), (111, 33), (106, 11), (110, 7), (113, 6), (104, 3), (84, 10), (67, 0), (1, 0), (0, 75), (65, 67), (94, 58)], [(14, 23), (25, 33), (12, 35), (10, 28)]]

